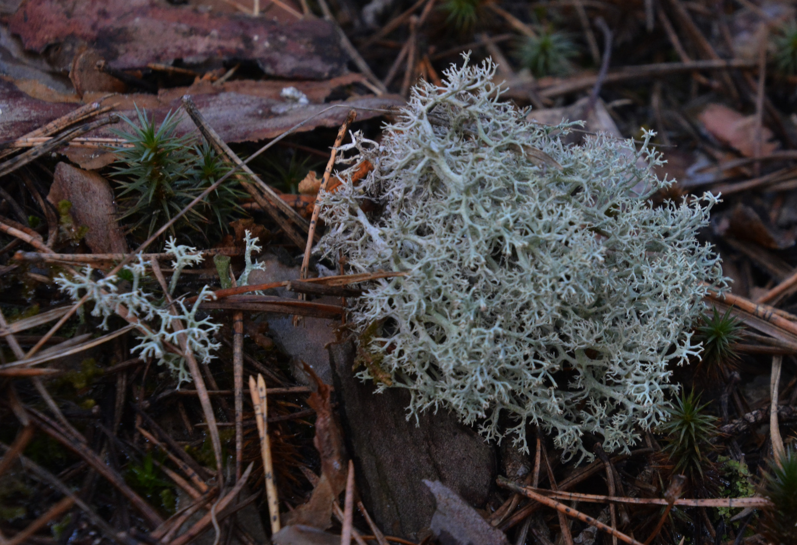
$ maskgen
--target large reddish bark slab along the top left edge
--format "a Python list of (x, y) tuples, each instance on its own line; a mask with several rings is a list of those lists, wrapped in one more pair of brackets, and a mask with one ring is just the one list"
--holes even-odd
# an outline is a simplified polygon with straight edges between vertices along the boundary
[(114, 69), (155, 62), (257, 61), (273, 76), (324, 79), (346, 72), (334, 25), (322, 19), (273, 22), (243, 14), (202, 13), (155, 0), (30, 0), (9, 18), (26, 49), (91, 45)]

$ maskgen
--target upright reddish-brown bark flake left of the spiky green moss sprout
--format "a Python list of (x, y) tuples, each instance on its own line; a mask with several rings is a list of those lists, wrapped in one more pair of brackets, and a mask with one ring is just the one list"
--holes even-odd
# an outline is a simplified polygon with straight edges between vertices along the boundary
[(91, 171), (58, 163), (47, 200), (57, 206), (72, 203), (69, 214), (77, 225), (88, 227), (85, 241), (93, 253), (127, 253), (128, 244), (116, 222), (116, 206), (108, 180)]

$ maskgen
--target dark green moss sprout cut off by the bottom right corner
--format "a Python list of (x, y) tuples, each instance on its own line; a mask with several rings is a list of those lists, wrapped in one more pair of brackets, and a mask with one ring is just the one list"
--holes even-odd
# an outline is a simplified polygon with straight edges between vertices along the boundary
[(797, 545), (797, 453), (789, 448), (779, 462), (764, 473), (762, 492), (773, 507), (764, 510), (761, 530), (768, 543)]

